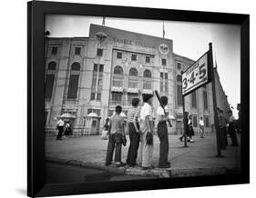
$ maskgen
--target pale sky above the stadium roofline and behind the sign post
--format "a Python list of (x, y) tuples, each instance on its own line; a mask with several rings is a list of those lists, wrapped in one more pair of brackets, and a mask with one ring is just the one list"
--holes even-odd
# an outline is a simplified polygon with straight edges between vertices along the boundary
[[(102, 17), (85, 15), (46, 15), (50, 37), (87, 37), (89, 25), (102, 25)], [(198, 60), (212, 43), (214, 62), (218, 65), (220, 83), (234, 107), (241, 102), (241, 31), (239, 25), (220, 25), (145, 19), (106, 17), (105, 25), (173, 40), (176, 54)]]

